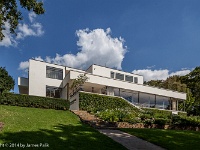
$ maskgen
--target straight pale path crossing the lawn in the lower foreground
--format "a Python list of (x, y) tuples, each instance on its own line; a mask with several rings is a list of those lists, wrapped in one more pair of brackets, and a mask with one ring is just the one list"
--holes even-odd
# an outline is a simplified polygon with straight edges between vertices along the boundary
[(157, 145), (144, 141), (120, 130), (99, 129), (98, 131), (110, 137), (114, 141), (122, 144), (129, 150), (164, 150)]

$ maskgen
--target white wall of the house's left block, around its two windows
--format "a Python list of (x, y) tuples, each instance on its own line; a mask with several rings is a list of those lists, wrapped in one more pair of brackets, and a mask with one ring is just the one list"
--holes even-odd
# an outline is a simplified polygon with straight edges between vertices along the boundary
[(29, 60), (29, 95), (46, 96), (46, 85), (59, 87), (62, 80), (46, 78), (46, 66), (63, 69), (65, 77), (65, 67), (49, 64), (36, 60)]

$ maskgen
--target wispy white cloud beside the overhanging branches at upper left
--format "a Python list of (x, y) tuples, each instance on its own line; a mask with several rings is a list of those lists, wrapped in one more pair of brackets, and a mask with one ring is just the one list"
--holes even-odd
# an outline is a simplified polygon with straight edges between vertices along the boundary
[(36, 22), (36, 14), (34, 12), (30, 12), (28, 14), (30, 24), (19, 23), (18, 28), (16, 30), (17, 36), (15, 37), (10, 33), (10, 26), (6, 22), (5, 29), (3, 30), (3, 34), (5, 35), (3, 41), (0, 42), (0, 46), (17, 46), (19, 40), (24, 39), (27, 36), (42, 36), (44, 34), (43, 26), (41, 23)]

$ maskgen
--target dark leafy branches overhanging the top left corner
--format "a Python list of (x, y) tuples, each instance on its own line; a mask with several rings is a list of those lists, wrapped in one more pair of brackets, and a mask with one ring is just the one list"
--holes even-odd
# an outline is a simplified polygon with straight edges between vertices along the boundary
[[(37, 15), (45, 12), (43, 3), (37, 0), (19, 0), (19, 4), (22, 8), (33, 11)], [(15, 30), (20, 20), (23, 20), (23, 17), (17, 7), (17, 0), (0, 0), (0, 41), (5, 37), (3, 34), (5, 23), (9, 24), (10, 33), (16, 34)]]

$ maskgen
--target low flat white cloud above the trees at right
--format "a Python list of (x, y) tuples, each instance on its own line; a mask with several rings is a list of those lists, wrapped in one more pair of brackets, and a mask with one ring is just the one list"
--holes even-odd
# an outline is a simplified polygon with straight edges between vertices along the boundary
[(132, 73), (139, 74), (144, 77), (144, 81), (150, 80), (165, 80), (169, 76), (179, 75), (184, 76), (190, 73), (191, 70), (184, 69), (176, 72), (170, 72), (167, 69), (160, 69), (160, 70), (151, 70), (151, 69), (142, 69), (142, 70), (133, 70)]

